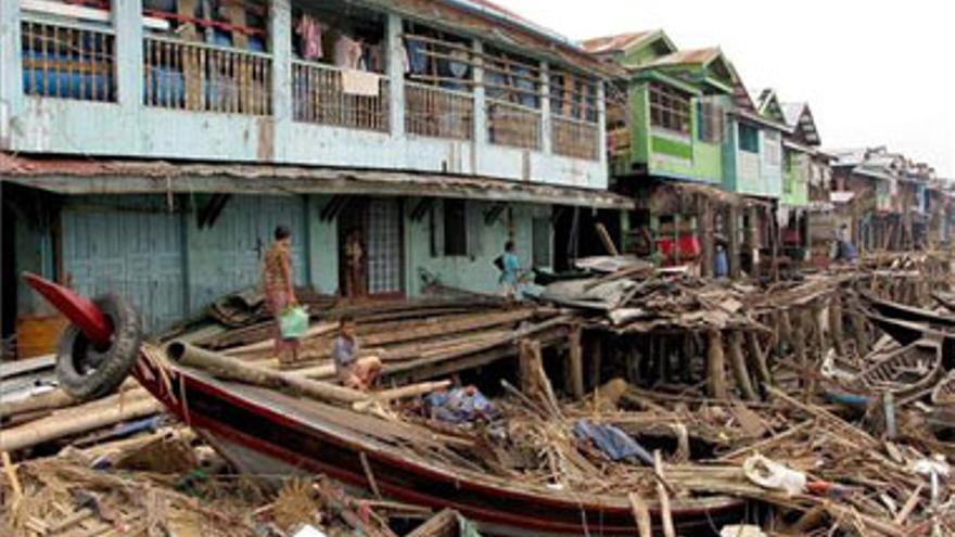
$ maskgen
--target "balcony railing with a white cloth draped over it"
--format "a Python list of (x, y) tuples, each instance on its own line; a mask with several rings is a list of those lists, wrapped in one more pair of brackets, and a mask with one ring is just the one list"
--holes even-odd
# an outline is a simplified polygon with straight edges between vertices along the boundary
[(390, 128), (389, 80), (384, 76), (295, 61), (292, 98), (296, 122), (380, 132)]

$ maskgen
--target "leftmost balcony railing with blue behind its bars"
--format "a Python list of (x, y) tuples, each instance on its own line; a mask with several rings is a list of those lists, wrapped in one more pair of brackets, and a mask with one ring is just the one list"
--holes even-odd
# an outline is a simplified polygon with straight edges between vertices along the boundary
[(28, 95), (115, 101), (115, 36), (107, 27), (21, 23), (23, 88)]

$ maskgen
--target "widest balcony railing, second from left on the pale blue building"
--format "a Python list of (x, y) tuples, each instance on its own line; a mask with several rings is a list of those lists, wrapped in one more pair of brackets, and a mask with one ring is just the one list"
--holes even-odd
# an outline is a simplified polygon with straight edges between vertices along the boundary
[(148, 36), (143, 60), (149, 106), (271, 115), (268, 54)]

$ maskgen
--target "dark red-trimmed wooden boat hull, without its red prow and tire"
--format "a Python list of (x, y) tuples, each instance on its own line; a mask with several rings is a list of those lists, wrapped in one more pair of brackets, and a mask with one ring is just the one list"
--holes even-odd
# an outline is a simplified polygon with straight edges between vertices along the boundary
[[(351, 486), (377, 487), (399, 501), (456, 509), (489, 534), (635, 534), (625, 490), (575, 501), (556, 491), (511, 488), (356, 440), (333, 421), (316, 419), (311, 401), (226, 383), (187, 368), (157, 369), (149, 359), (139, 360), (135, 375), (243, 471), (266, 476), (327, 474)], [(725, 496), (680, 500), (674, 503), (673, 517), (685, 535), (715, 535), (723, 524), (742, 520), (746, 506), (742, 499)], [(659, 522), (653, 509), (651, 515)]]

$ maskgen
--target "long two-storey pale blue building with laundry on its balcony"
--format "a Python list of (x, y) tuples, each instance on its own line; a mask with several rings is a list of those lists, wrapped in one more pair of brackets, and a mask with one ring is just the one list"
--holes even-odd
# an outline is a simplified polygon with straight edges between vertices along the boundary
[[(153, 330), (255, 284), (277, 225), (296, 283), (410, 296), (495, 290), (507, 240), (551, 267), (576, 214), (628, 207), (617, 72), (484, 1), (4, 0), (0, 28), (4, 280), (123, 292)], [(15, 291), (4, 318), (42, 314)]]

